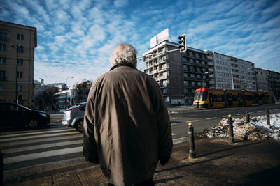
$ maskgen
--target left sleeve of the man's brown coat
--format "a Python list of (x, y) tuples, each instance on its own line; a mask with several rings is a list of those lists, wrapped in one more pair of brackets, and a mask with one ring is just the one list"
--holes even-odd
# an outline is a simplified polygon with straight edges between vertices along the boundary
[(91, 92), (92, 90), (87, 98), (83, 120), (83, 155), (86, 161), (98, 164), (97, 144), (94, 139), (94, 102), (90, 96), (92, 95)]

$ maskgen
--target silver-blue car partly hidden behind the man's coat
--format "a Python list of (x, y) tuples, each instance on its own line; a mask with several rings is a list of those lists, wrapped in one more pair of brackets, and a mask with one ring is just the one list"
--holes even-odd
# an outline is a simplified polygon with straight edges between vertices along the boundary
[(65, 127), (76, 128), (78, 132), (83, 132), (83, 116), (87, 102), (80, 103), (64, 111), (62, 124)]

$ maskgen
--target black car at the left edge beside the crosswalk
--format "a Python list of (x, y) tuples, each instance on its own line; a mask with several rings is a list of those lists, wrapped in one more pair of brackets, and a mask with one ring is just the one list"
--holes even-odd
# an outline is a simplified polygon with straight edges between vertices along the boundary
[(34, 111), (20, 104), (0, 102), (0, 127), (29, 127), (50, 123), (50, 114), (44, 111)]

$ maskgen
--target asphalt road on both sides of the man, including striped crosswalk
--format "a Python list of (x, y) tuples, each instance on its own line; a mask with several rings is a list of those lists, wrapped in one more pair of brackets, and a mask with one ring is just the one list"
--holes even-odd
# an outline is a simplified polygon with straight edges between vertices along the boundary
[[(188, 122), (193, 122), (195, 131), (198, 132), (216, 125), (228, 114), (241, 117), (249, 111), (252, 116), (256, 116), (265, 114), (267, 109), (271, 113), (279, 112), (280, 105), (209, 110), (186, 107), (169, 109), (174, 144), (186, 140)], [(55, 114), (52, 115), (50, 125), (36, 130), (0, 132), (0, 145), (5, 154), (4, 185), (92, 166), (83, 157), (83, 134), (64, 127), (61, 120), (62, 114)]]

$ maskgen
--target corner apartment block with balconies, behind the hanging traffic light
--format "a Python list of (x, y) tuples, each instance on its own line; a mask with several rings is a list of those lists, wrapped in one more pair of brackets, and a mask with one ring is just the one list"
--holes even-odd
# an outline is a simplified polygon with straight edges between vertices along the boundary
[(144, 72), (158, 82), (167, 106), (193, 104), (195, 89), (209, 87), (207, 52), (176, 49), (179, 44), (166, 40), (143, 54)]

